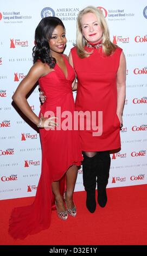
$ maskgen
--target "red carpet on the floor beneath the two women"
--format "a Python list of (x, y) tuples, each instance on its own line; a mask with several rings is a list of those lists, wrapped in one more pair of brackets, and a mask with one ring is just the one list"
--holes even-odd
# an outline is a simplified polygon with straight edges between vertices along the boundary
[(61, 221), (56, 211), (48, 230), (14, 240), (8, 235), (12, 208), (28, 205), (34, 198), (1, 200), (1, 245), (146, 245), (147, 185), (107, 188), (108, 203), (94, 214), (85, 206), (86, 192), (75, 192), (77, 216)]

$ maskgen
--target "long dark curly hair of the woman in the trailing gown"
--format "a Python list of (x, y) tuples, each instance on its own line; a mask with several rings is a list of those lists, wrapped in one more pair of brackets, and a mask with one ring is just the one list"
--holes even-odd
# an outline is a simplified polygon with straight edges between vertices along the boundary
[(52, 33), (57, 25), (65, 29), (63, 22), (57, 17), (43, 18), (35, 30), (35, 46), (33, 47), (33, 62), (38, 59), (47, 63), (50, 68), (54, 68), (56, 59), (52, 57), (48, 41), (52, 38)]

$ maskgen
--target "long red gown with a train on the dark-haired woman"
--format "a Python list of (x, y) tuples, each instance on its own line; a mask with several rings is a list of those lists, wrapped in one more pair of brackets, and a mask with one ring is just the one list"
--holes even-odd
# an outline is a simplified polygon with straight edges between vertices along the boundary
[[(62, 55), (63, 56), (63, 55)], [(68, 77), (56, 64), (54, 71), (39, 79), (41, 90), (47, 96), (46, 102), (41, 107), (40, 113), (49, 117), (49, 112), (54, 112), (61, 122), (66, 119), (66, 113), (72, 114), (75, 110), (72, 82), (75, 72), (63, 56)], [(56, 113), (56, 107), (60, 111)], [(66, 111), (66, 112), (64, 112)], [(59, 119), (57, 122), (60, 123)], [(66, 121), (66, 120), (65, 120)], [(42, 170), (37, 187), (35, 201), (32, 205), (15, 208), (9, 220), (9, 234), (15, 239), (24, 239), (27, 235), (35, 234), (50, 225), (51, 212), (54, 208), (52, 182), (61, 181), (61, 194), (65, 191), (65, 173), (75, 164), (80, 166), (83, 159), (80, 148), (79, 132), (73, 129), (46, 130), (40, 129), (42, 145)]]

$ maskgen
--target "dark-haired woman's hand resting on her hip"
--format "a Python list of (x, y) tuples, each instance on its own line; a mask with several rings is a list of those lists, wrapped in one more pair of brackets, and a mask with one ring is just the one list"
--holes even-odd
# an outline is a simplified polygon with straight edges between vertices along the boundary
[(37, 124), (37, 127), (54, 129), (56, 126), (58, 126), (58, 124), (53, 119), (57, 119), (57, 117), (44, 118), (43, 114), (41, 113), (41, 118)]

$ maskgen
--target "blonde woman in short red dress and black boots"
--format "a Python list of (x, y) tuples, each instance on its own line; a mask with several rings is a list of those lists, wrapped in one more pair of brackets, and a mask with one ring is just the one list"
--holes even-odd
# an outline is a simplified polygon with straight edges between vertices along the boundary
[(83, 180), (87, 192), (86, 206), (96, 208), (95, 187), (98, 184), (98, 203), (107, 203), (106, 185), (110, 171), (110, 150), (120, 148), (120, 127), (125, 101), (126, 62), (121, 48), (112, 44), (101, 10), (87, 7), (77, 19), (76, 46), (69, 53), (69, 62), (78, 79), (76, 111), (100, 111), (97, 114), (98, 133), (80, 130), (84, 155)]

